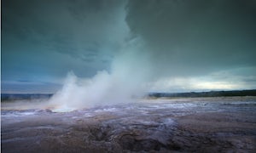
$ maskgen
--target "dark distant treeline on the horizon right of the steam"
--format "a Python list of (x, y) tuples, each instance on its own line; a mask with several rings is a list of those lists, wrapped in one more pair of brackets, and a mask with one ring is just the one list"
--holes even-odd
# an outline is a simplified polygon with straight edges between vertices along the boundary
[(234, 91), (210, 91), (190, 93), (149, 93), (148, 97), (228, 97), (228, 96), (256, 96), (256, 89)]

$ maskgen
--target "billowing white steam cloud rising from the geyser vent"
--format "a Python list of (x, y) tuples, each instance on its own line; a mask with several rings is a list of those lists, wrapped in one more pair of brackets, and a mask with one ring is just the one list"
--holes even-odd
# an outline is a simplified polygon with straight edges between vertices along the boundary
[(49, 104), (55, 111), (73, 111), (134, 101), (145, 94), (144, 85), (150, 78), (148, 59), (143, 41), (132, 39), (115, 56), (110, 71), (98, 71), (92, 78), (79, 78), (69, 72)]

